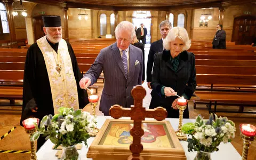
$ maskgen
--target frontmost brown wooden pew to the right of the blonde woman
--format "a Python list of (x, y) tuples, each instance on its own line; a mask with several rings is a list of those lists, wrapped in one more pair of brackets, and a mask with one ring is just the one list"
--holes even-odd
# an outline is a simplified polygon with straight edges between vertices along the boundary
[[(197, 74), (197, 83), (201, 84), (221, 84), (221, 85), (255, 85), (256, 75), (238, 75), (238, 74)], [(238, 95), (247, 95), (246, 99), (250, 99), (249, 102), (244, 102)], [(214, 113), (217, 112), (218, 105), (228, 106), (240, 106), (239, 113), (243, 112), (243, 108), (246, 106), (256, 106), (256, 93), (255, 92), (231, 92), (231, 91), (197, 91), (196, 97), (199, 98), (200, 103), (206, 103), (209, 106), (209, 113), (211, 113), (211, 105), (214, 103)], [(194, 99), (196, 103), (198, 99)], [(204, 102), (202, 102), (204, 101)], [(205, 102), (207, 101), (207, 102)], [(242, 104), (242, 105), (241, 105)], [(230, 112), (230, 111), (226, 111)]]

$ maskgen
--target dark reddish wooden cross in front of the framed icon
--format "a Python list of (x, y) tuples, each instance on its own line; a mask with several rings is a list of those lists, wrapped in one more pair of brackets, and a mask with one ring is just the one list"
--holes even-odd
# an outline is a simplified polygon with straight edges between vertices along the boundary
[(134, 106), (131, 106), (131, 108), (123, 108), (119, 105), (111, 106), (109, 109), (109, 115), (115, 119), (131, 117), (131, 120), (133, 120), (133, 128), (130, 131), (133, 137), (132, 144), (130, 145), (132, 155), (127, 159), (139, 160), (143, 159), (140, 156), (140, 153), (143, 150), (141, 137), (144, 135), (144, 131), (141, 128), (142, 121), (144, 121), (146, 117), (162, 121), (167, 117), (167, 111), (163, 107), (147, 110), (142, 107), (143, 98), (146, 96), (146, 90), (141, 85), (135, 86), (131, 92), (134, 99)]

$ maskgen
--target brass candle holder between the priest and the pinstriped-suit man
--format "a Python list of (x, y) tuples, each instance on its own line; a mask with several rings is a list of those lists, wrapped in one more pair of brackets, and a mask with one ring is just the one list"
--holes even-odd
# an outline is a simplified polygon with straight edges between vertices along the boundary
[[(96, 107), (98, 106), (98, 101), (99, 101), (98, 95), (89, 96), (89, 102), (91, 103), (92, 115), (94, 118), (96, 117)], [(91, 137), (95, 137), (98, 132), (99, 132), (99, 129), (97, 127), (94, 127), (93, 129), (91, 129), (89, 134), (91, 135)]]

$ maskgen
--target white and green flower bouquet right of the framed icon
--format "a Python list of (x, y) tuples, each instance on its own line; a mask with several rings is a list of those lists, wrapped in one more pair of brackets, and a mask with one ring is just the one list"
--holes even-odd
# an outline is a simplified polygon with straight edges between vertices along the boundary
[(231, 138), (235, 137), (236, 127), (234, 122), (228, 120), (227, 117), (219, 117), (210, 115), (209, 120), (203, 120), (201, 116), (197, 116), (195, 123), (186, 123), (182, 126), (182, 131), (189, 134), (188, 151), (218, 151), (217, 148), (221, 142), (227, 143)]

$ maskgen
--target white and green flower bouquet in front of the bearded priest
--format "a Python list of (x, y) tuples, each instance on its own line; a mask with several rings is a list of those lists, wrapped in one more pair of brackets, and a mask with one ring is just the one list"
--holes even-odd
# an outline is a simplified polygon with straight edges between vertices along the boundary
[(35, 124), (37, 132), (30, 139), (37, 140), (42, 135), (45, 139), (50, 139), (55, 148), (59, 145), (74, 146), (83, 141), (87, 146), (89, 132), (96, 123), (94, 117), (86, 111), (82, 112), (82, 109), (60, 107), (59, 114), (44, 116), (39, 127)]

